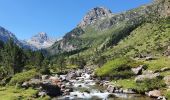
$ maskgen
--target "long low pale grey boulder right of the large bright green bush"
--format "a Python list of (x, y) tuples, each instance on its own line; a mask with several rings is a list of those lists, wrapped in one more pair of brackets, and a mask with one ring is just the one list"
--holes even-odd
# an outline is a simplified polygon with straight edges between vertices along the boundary
[(160, 77), (160, 74), (159, 73), (153, 73), (153, 74), (144, 74), (144, 75), (138, 75), (136, 78), (135, 78), (135, 81), (136, 82), (141, 82), (145, 79), (154, 79), (154, 78), (157, 78), (157, 77)]

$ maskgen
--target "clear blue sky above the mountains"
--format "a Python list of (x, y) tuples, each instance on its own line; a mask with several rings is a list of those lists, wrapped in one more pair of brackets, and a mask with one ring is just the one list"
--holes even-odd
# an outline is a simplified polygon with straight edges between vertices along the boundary
[(38, 32), (59, 38), (73, 29), (96, 6), (113, 13), (136, 8), (151, 0), (0, 0), (0, 26), (28, 39)]

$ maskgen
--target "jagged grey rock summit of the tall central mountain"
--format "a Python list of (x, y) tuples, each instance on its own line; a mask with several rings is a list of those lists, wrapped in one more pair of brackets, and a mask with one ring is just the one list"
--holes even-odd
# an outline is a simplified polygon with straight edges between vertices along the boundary
[(95, 23), (98, 19), (111, 16), (112, 12), (104, 7), (96, 7), (90, 10), (78, 27), (84, 28), (87, 25)]

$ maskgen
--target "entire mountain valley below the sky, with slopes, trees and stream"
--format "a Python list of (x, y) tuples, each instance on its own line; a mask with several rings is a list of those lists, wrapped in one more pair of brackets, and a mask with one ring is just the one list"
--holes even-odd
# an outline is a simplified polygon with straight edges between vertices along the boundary
[[(4, 35), (5, 34), (5, 35)], [(89, 10), (62, 39), (0, 27), (3, 100), (169, 100), (170, 1)]]

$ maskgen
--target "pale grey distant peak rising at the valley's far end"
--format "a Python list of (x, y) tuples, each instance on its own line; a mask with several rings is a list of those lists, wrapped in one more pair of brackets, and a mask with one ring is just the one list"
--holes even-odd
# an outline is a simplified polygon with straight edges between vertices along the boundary
[(55, 40), (50, 39), (44, 32), (38, 33), (27, 41), (28, 44), (36, 47), (37, 49), (48, 48), (53, 45), (54, 42)]

